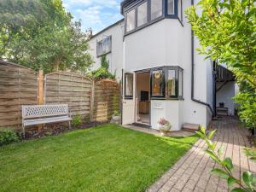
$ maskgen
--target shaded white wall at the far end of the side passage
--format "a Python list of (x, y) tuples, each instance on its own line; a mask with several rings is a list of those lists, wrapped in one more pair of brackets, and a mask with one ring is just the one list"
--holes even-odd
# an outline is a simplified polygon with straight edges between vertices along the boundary
[[(219, 87), (220, 84), (223, 84), (223, 83), (218, 83), (217, 87)], [(225, 84), (221, 90), (218, 90), (217, 96), (216, 96), (217, 107), (219, 102), (224, 102), (224, 107), (229, 108), (229, 115), (234, 115), (235, 103), (234, 103), (234, 100), (232, 99), (234, 96), (235, 96), (235, 82), (232, 81)]]

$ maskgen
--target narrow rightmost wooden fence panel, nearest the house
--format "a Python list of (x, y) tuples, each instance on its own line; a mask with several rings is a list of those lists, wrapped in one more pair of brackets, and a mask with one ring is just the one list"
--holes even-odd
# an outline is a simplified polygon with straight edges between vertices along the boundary
[(108, 121), (114, 110), (119, 110), (120, 86), (110, 79), (103, 79), (95, 83), (93, 119)]

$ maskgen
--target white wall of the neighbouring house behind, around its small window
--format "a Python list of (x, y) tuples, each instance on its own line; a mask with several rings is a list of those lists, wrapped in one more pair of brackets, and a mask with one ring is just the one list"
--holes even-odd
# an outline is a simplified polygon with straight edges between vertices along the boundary
[(124, 21), (118, 22), (116, 25), (100, 32), (98, 35), (90, 39), (90, 55), (92, 55), (92, 58), (95, 61), (90, 70), (95, 70), (101, 67), (101, 57), (97, 57), (96, 55), (96, 43), (108, 36), (112, 37), (112, 51), (107, 55), (109, 71), (111, 73), (116, 73), (117, 80), (120, 80), (122, 77), (123, 67)]

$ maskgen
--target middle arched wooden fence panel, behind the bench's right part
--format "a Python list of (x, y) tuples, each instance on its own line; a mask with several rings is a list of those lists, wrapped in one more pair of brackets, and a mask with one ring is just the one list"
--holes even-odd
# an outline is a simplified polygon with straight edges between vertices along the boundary
[(45, 104), (68, 104), (72, 115), (90, 119), (92, 81), (80, 74), (69, 72), (45, 75)]

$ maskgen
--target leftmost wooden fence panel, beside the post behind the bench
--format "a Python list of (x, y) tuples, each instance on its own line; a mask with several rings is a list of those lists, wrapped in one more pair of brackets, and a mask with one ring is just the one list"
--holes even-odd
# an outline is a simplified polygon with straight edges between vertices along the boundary
[(21, 124), (21, 105), (36, 105), (38, 73), (0, 61), (0, 127)]

